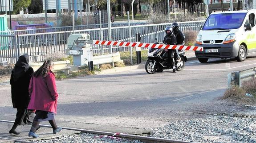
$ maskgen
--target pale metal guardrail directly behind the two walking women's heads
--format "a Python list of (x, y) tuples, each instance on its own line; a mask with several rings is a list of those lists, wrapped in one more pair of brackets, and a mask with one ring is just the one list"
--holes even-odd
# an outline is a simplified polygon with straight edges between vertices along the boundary
[[(70, 70), (70, 61), (57, 61), (57, 62), (53, 62), (54, 63), (54, 68), (53, 71), (63, 71), (66, 74), (69, 74), (69, 70)], [(29, 62), (29, 66), (31, 66), (33, 68), (34, 71), (38, 70), (40, 68), (40, 66), (43, 65), (43, 62)]]

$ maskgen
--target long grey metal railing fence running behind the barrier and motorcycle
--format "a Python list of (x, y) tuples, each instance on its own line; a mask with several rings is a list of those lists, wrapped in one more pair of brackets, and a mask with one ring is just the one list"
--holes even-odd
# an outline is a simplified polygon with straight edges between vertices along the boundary
[[(183, 31), (200, 30), (204, 21), (182, 22), (180, 27)], [(154, 43), (155, 38), (161, 42), (165, 35), (164, 28), (171, 23), (131, 25), (123, 27), (111, 27), (112, 41), (135, 42), (135, 34), (140, 33), (141, 43)], [(96, 28), (76, 30), (74, 33), (88, 33), (93, 40), (109, 40), (108, 28)], [(43, 61), (49, 57), (63, 57), (68, 49), (68, 37), (73, 31), (59, 31), (48, 33), (32, 33), (16, 35), (8, 32), (0, 33), (0, 62), (8, 61), (15, 63), (21, 54), (29, 54), (31, 62)], [(94, 54), (110, 52), (110, 46), (93, 45)], [(111, 47), (112, 52), (129, 51), (130, 47)]]

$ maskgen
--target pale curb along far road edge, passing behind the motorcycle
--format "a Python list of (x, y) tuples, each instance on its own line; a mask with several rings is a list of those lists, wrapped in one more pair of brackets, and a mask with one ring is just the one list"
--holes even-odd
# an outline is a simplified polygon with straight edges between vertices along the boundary
[[(187, 58), (188, 61), (196, 60), (196, 57)], [(145, 65), (135, 65), (135, 66), (125, 66), (125, 67), (114, 67), (113, 69), (102, 70), (101, 72), (95, 72), (96, 74), (108, 74), (108, 73), (116, 73), (116, 72), (124, 72), (136, 69), (144, 69)]]

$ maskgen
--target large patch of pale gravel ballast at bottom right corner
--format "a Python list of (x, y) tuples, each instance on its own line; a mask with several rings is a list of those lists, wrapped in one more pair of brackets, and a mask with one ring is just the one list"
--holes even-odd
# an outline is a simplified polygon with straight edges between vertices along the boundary
[(256, 143), (256, 118), (223, 114), (180, 120), (152, 131), (152, 137), (191, 142)]

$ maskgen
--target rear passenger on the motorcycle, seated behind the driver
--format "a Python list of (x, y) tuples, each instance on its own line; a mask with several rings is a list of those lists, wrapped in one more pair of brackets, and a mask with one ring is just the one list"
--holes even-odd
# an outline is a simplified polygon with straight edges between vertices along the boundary
[[(176, 45), (183, 45), (184, 46), (185, 45), (185, 35), (180, 30), (179, 23), (174, 22), (174, 23), (171, 24), (171, 27), (173, 29), (174, 35), (177, 38)], [(179, 51), (178, 50), (175, 50), (174, 58), (177, 62), (181, 62), (181, 58), (179, 57)]]

